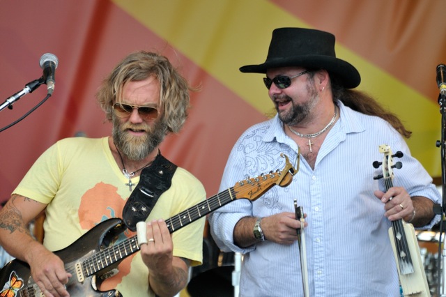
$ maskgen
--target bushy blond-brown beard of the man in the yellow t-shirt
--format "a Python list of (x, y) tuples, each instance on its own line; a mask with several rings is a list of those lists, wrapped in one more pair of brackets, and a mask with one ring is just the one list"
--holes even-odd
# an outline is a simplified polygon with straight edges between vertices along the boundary
[[(121, 153), (134, 161), (143, 160), (161, 144), (166, 136), (167, 125), (160, 119), (153, 121), (151, 125), (141, 123), (120, 123), (113, 115), (113, 139), (114, 144)], [(144, 136), (134, 136), (127, 130), (145, 131)]]

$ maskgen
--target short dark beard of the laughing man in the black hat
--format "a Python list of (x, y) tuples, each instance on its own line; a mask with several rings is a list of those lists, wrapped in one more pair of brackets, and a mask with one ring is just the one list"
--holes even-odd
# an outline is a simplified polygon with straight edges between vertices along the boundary
[[(285, 124), (285, 125), (298, 125), (299, 123), (302, 123), (305, 119), (309, 118), (309, 115), (312, 112), (312, 109), (318, 102), (318, 94), (316, 91), (316, 86), (312, 84), (307, 85), (307, 93), (309, 100), (306, 100), (305, 102), (301, 104), (297, 104), (294, 102), (293, 98), (289, 96), (277, 96), (275, 97), (276, 102), (276, 110), (277, 114), (279, 114), (279, 119)], [(277, 101), (289, 101), (291, 102), (291, 109), (290, 110), (279, 110), (279, 107), (277, 106)]]

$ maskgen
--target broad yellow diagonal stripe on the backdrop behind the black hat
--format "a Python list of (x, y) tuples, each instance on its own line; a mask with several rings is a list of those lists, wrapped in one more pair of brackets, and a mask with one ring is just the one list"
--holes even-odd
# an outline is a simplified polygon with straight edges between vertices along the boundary
[[(113, 1), (262, 114), (272, 110), (263, 75), (243, 74), (238, 68), (265, 61), (273, 29), (310, 27), (264, 0)], [(439, 107), (339, 41), (336, 51), (360, 71), (358, 89), (378, 98), (413, 131), (408, 140), (413, 155), (432, 176), (440, 176), (440, 151), (435, 146), (440, 137)]]

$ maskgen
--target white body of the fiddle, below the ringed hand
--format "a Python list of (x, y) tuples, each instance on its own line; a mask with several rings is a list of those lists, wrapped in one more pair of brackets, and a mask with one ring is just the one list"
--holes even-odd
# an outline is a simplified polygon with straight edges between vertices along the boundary
[(408, 242), (410, 255), (412, 256), (413, 273), (402, 274), (399, 269), (399, 257), (395, 247), (393, 228), (389, 228), (390, 243), (394, 252), (395, 261), (397, 261), (399, 281), (403, 288), (404, 296), (430, 297), (429, 284), (427, 283), (426, 273), (421, 259), (420, 247), (418, 246), (417, 236), (412, 224), (403, 223), (404, 233)]

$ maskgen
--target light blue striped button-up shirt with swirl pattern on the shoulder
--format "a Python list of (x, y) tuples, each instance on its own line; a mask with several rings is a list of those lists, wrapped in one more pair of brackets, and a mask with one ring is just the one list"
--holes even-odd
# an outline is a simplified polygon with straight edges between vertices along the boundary
[[(241, 249), (233, 244), (233, 227), (245, 216), (266, 217), (294, 212), (293, 201), (303, 206), (310, 296), (399, 296), (399, 279), (383, 203), (374, 190), (384, 190), (380, 144), (403, 152), (401, 169), (394, 169), (394, 185), (410, 196), (429, 197), (440, 203), (440, 193), (426, 170), (411, 155), (406, 142), (392, 126), (375, 116), (354, 112), (341, 102), (340, 119), (328, 132), (314, 170), (304, 158), (286, 188), (275, 186), (249, 201), (238, 199), (210, 216), (217, 245), (242, 252), (240, 296), (303, 296), (298, 242), (279, 245), (270, 241)], [(285, 153), (295, 166), (298, 146), (283, 130), (277, 115), (252, 126), (238, 139), (224, 169), (220, 190), (237, 181), (283, 169)], [(429, 229), (440, 216), (426, 226)]]

